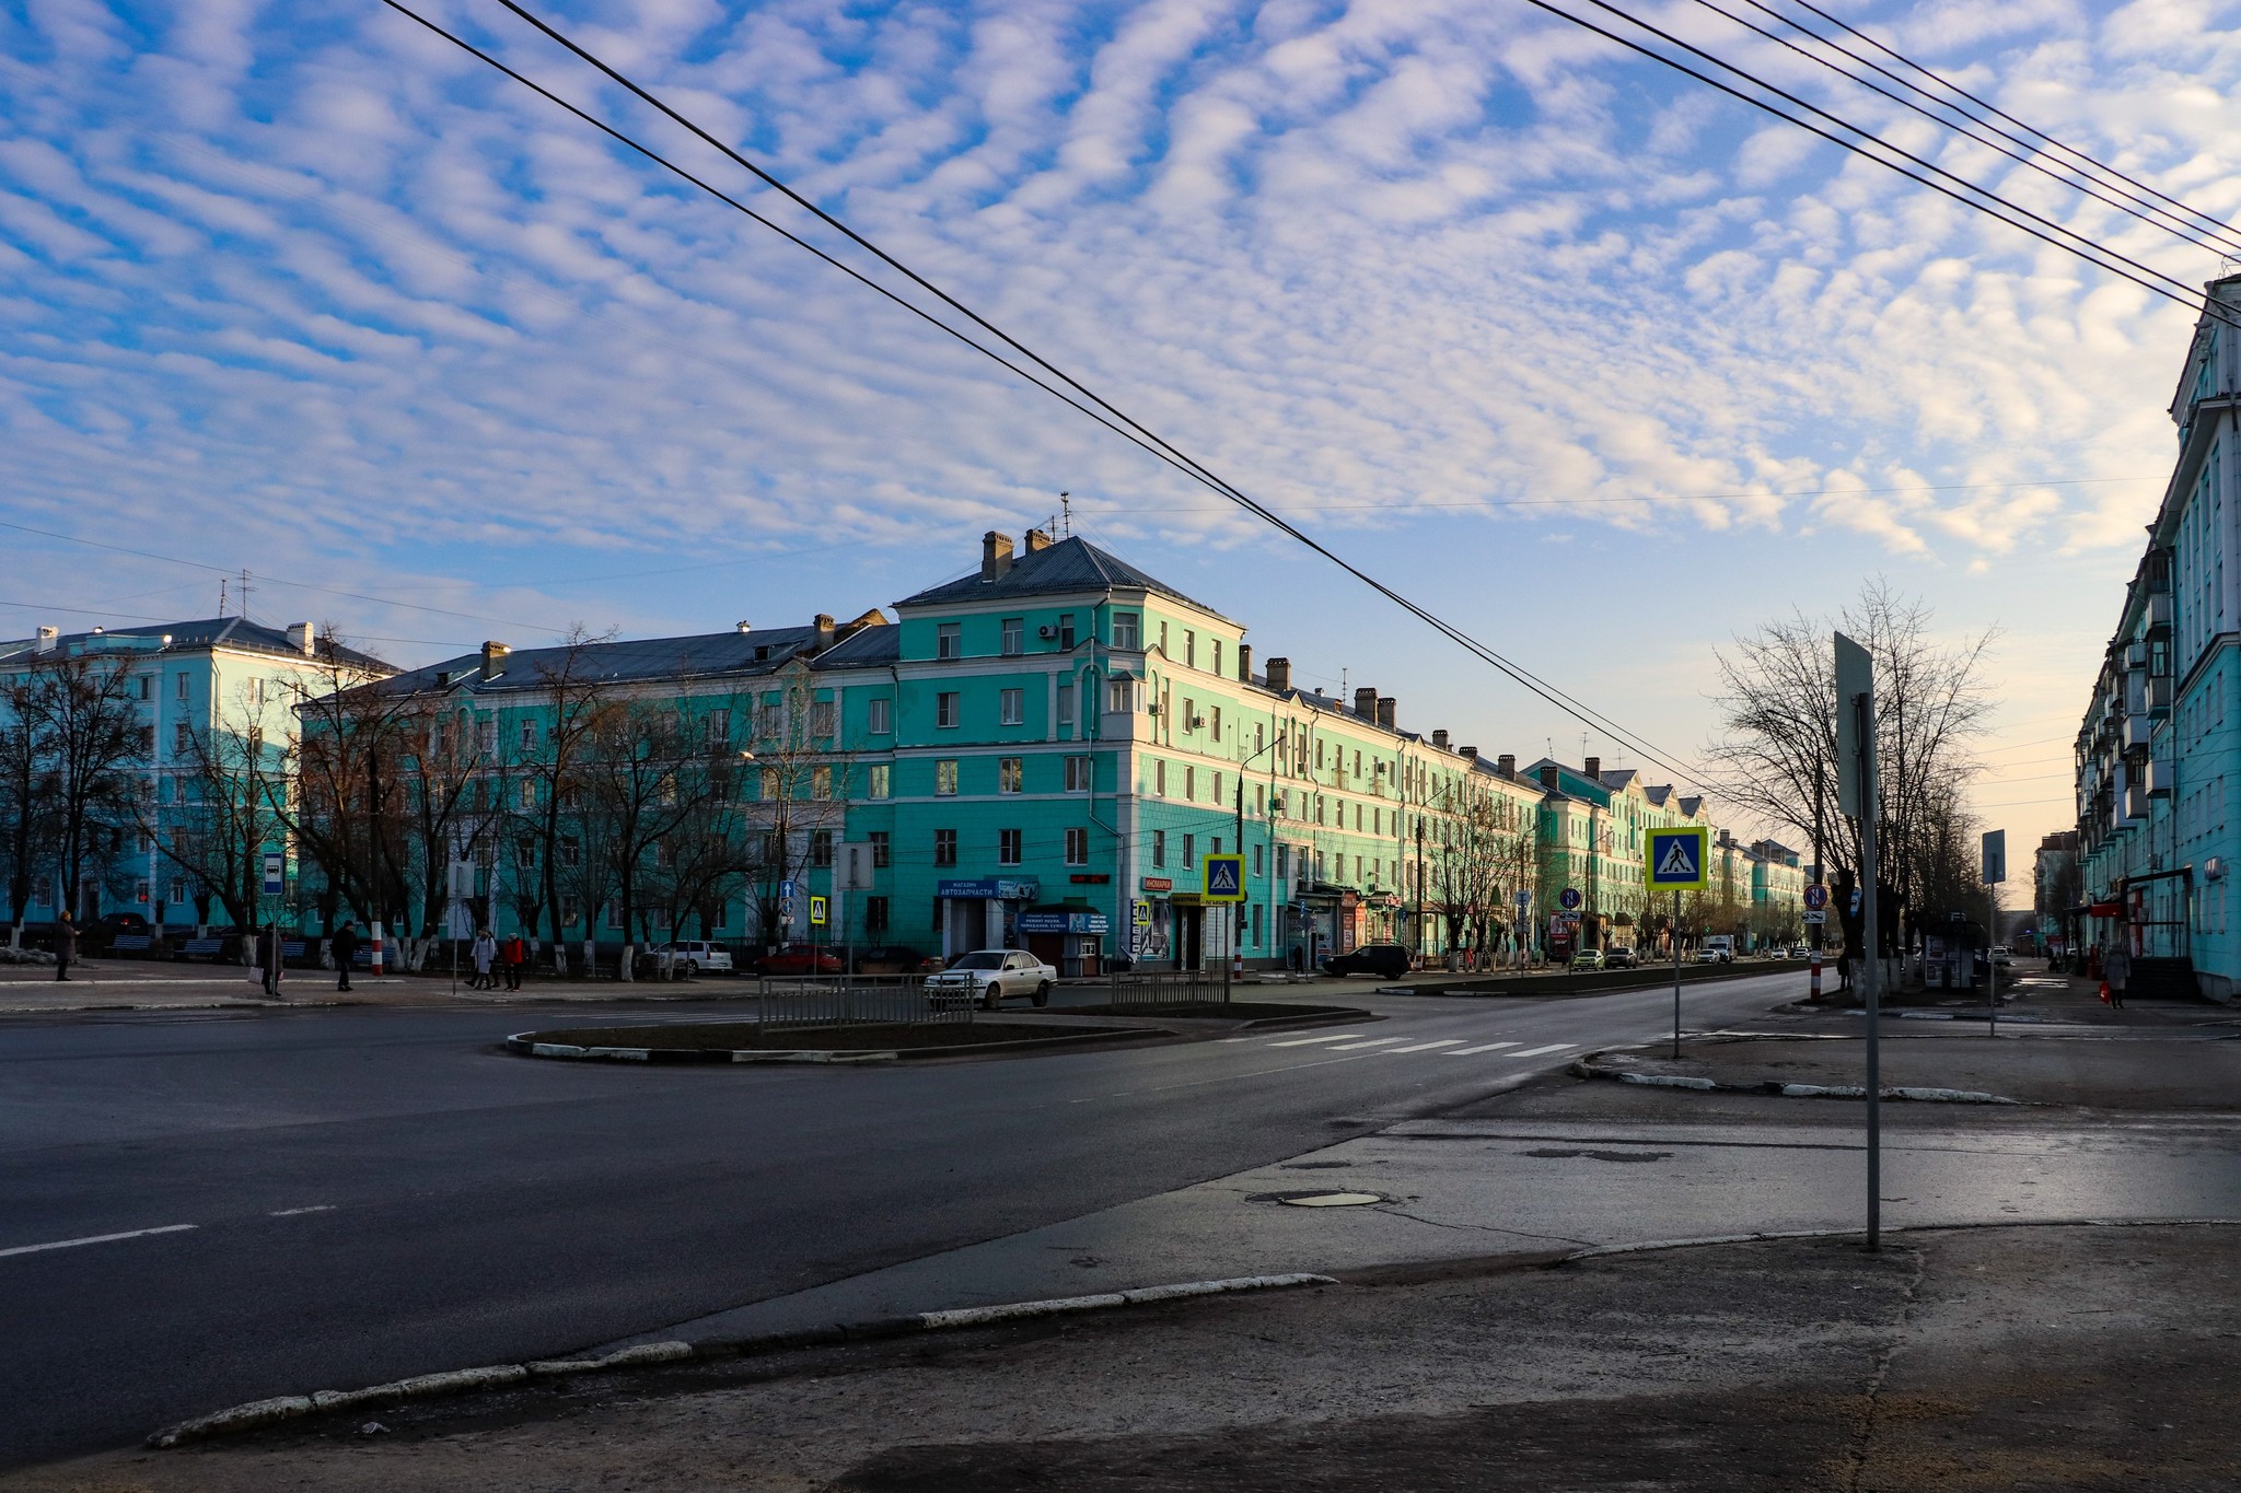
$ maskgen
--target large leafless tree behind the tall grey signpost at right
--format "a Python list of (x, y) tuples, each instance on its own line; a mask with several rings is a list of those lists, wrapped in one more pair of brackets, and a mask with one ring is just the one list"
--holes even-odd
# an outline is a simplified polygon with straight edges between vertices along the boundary
[(1992, 712), (1983, 667), (1997, 631), (1943, 645), (1930, 609), (1878, 578), (1835, 618), (1797, 611), (1717, 654), (1721, 736), (1708, 754), (1721, 768), (1721, 795), (1806, 842), (1820, 806), (1826, 860), (1844, 866), (1860, 864), (1860, 826), (1835, 813), (1838, 629), (1876, 660), (1876, 821), (1882, 880), (1898, 898), (1889, 927), (1898, 927), (1921, 904), (1941, 806), (1979, 772), (1972, 748)]

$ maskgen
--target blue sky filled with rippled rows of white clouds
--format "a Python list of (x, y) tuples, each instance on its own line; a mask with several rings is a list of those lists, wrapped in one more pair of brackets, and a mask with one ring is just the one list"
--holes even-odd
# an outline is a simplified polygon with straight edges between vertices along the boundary
[[(2232, 9), (1844, 16), (2232, 217)], [(426, 13), (836, 246), (489, 0)], [(1643, 13), (1992, 175), (1696, 7)], [(1759, 620), (1882, 573), (1956, 633), (1997, 625), (1977, 797), (2024, 844), (2068, 819), (2180, 307), (1517, 0), (551, 18), (1674, 757)], [(9, 522), (247, 566), (255, 616), (399, 660), (852, 616), (1064, 488), (1078, 533), (1309, 683), (1582, 754), (1338, 571), (372, 0), (0, 0), (0, 441)], [(0, 633), (215, 609), (215, 571), (0, 548)]]

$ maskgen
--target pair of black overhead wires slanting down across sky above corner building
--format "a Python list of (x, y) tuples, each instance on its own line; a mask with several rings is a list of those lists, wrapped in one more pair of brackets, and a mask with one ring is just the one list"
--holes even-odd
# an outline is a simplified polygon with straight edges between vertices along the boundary
[[(1313, 537), (1309, 537), (1307, 533), (1302, 533), (1298, 526), (1289, 524), (1286, 519), (1282, 519), (1280, 515), (1275, 515), (1271, 508), (1262, 506), (1253, 497), (1244, 495), (1239, 488), (1235, 488), (1226, 479), (1217, 477), (1212, 470), (1208, 470), (1206, 466), (1201, 466), (1197, 459), (1183, 454), (1179, 448), (1174, 448), (1172, 443), (1168, 443), (1154, 430), (1150, 430), (1141, 421), (1132, 419), (1123, 410), (1114, 407), (1112, 403), (1107, 403), (1103, 396), (1098, 396), (1096, 392), (1091, 392), (1089, 387), (1085, 387), (1080, 381), (1076, 381), (1067, 372), (1058, 369), (1053, 363), (1049, 363), (1047, 358), (1042, 358), (1040, 354), (1035, 354), (1031, 347), (1026, 347), (1024, 342), (1020, 342), (1017, 338), (1013, 338), (1011, 334), (1006, 334), (1002, 327), (988, 322), (984, 316), (979, 316), (977, 311), (973, 311), (970, 307), (966, 307), (964, 302), (959, 302), (955, 295), (950, 295), (948, 291), (939, 289), (937, 284), (932, 284), (930, 280), (926, 280), (923, 275), (919, 275), (914, 269), (910, 269), (908, 264), (903, 264), (901, 260), (896, 260), (894, 255), (890, 255), (885, 248), (881, 248), (878, 244), (874, 244), (865, 235), (856, 233), (854, 228), (849, 228), (845, 222), (840, 222), (838, 217), (834, 217), (825, 208), (818, 208), (813, 201), (809, 201), (807, 197), (802, 197), (800, 193), (796, 193), (793, 188), (789, 188), (784, 181), (780, 181), (778, 177), (773, 177), (771, 172), (766, 172), (762, 166), (753, 163), (751, 159), (746, 159), (744, 154), (740, 154), (737, 150), (733, 150), (731, 145), (726, 145), (724, 141), (715, 139), (713, 134), (708, 134), (708, 130), (704, 130), (701, 125), (697, 125), (695, 121), (690, 121), (688, 116), (684, 116), (681, 112), (677, 112), (675, 107), (670, 107), (668, 103), (663, 103), (661, 98), (657, 98), (648, 90), (639, 87), (634, 81), (630, 81), (627, 76), (623, 76), (610, 63), (605, 63), (596, 54), (587, 51), (585, 47), (580, 47), (571, 38), (567, 38), (565, 34), (556, 31), (551, 25), (547, 25), (545, 20), (540, 20), (538, 16), (533, 16), (531, 11), (522, 9), (520, 4), (513, 4), (513, 0), (500, 0), (500, 4), (504, 4), (509, 11), (513, 11), (515, 16), (520, 16), (522, 20), (527, 20), (529, 25), (533, 25), (538, 31), (542, 31), (545, 36), (549, 36), (560, 47), (569, 49), (578, 58), (583, 58), (585, 63), (589, 63), (592, 67), (596, 67), (598, 72), (603, 72), (607, 78), (612, 78), (614, 83), (619, 83), (621, 87), (625, 87), (627, 92), (632, 92), (636, 98), (645, 101), (648, 105), (652, 105), (654, 110), (659, 110), (661, 114), (666, 114), (668, 119), (672, 119), (677, 125), (681, 125), (684, 130), (688, 130), (690, 134), (695, 134), (697, 139), (701, 139), (704, 143), (708, 143), (710, 148), (715, 148), (717, 152), (722, 152), (726, 159), (731, 159), (733, 163), (737, 163), (742, 170), (746, 170), (755, 179), (764, 181), (766, 186), (771, 186), (773, 190), (778, 190), (780, 195), (784, 195), (789, 201), (793, 201), (802, 210), (811, 213), (813, 217), (818, 217), (820, 222), (825, 222), (827, 226), (831, 226), (834, 231), (838, 231), (840, 235), (845, 235), (849, 242), (858, 244), (861, 248), (865, 248), (867, 253), (872, 253), (874, 257), (878, 257), (883, 264), (887, 264), (890, 269), (894, 269), (896, 273), (901, 273), (903, 278), (908, 278), (912, 284), (921, 287), (926, 293), (934, 295), (941, 304), (955, 309), (961, 318), (966, 318), (975, 327), (984, 329), (991, 338), (995, 338), (995, 340), (1004, 342), (1006, 347), (1015, 349), (1022, 360), (1033, 363), (1038, 369), (1047, 372), (1051, 376), (1051, 381), (1038, 378), (1029, 369), (1020, 367), (1011, 358), (1006, 358), (1006, 356), (997, 354), (995, 349), (986, 347), (984, 342), (975, 340), (966, 331), (961, 331), (957, 327), (950, 327), (948, 322), (943, 322), (934, 313), (926, 311), (923, 307), (905, 300), (903, 295), (896, 295), (894, 291), (890, 291), (887, 287), (878, 284), (876, 280), (870, 280), (867, 275), (863, 275), (854, 266), (843, 264), (840, 260), (836, 260), (834, 255), (825, 253), (822, 248), (805, 242), (800, 235), (793, 235), (787, 228), (780, 228), (771, 219), (762, 217), (760, 213), (746, 208), (744, 204), (740, 204), (737, 199), (733, 199), (726, 193), (717, 190), (715, 186), (710, 186), (710, 184), (701, 181), (699, 177), (690, 175), (688, 170), (684, 170), (681, 166), (677, 166), (670, 159), (661, 157), (652, 148), (648, 148), (648, 145), (639, 143), (636, 139), (623, 134), (614, 125), (607, 125), (605, 121), (594, 119), (589, 112), (576, 107), (574, 103), (567, 103), (565, 98), (560, 98), (551, 90), (547, 90), (547, 87), (542, 87), (538, 83), (531, 83), (520, 72), (506, 67), (504, 63), (500, 63), (491, 54), (486, 54), (480, 47), (475, 47), (473, 43), (468, 43), (468, 40), (464, 40), (464, 38), (446, 31), (444, 27), (435, 25), (433, 20), (415, 13), (412, 9), (408, 9), (406, 4), (401, 4), (399, 0), (383, 0), (383, 4), (388, 4), (397, 13), (415, 20), (417, 25), (426, 27), (435, 36), (441, 36), (444, 40), (453, 43), (455, 47), (459, 47), (462, 51), (475, 56), (477, 60), (486, 63), (489, 67), (506, 74), (509, 78), (513, 78), (515, 83), (529, 87), (538, 96), (542, 96), (542, 98), (556, 103), (558, 107), (567, 110), (569, 114), (583, 119), (585, 123), (594, 125), (596, 130), (601, 130), (610, 139), (616, 139), (619, 143), (627, 145), (630, 150), (639, 152), (641, 157), (645, 157), (645, 159), (663, 166), (666, 170), (675, 172), (684, 181), (690, 181), (692, 186), (701, 188), (710, 197), (717, 197), (719, 201), (733, 206), (735, 210), (744, 213), (753, 222), (771, 228), (773, 233), (780, 233), (782, 237), (787, 237), (796, 246), (807, 248), (818, 260), (831, 264), (834, 269), (840, 269), (849, 278), (854, 278), (861, 284), (878, 291), (881, 295), (885, 295), (890, 302), (903, 307), (912, 316), (919, 316), (921, 320), (930, 322), (932, 327), (939, 327), (948, 336), (952, 336), (959, 342), (973, 347), (975, 351), (979, 351), (982, 356), (991, 358), (993, 363), (1006, 367), (1008, 372), (1017, 374), (1020, 378), (1033, 383), (1035, 387), (1044, 389), (1053, 398), (1060, 398), (1062, 403), (1071, 405), (1073, 410), (1087, 414), (1089, 419), (1098, 421), (1100, 425), (1105, 425), (1114, 434), (1120, 434), (1123, 439), (1127, 439), (1129, 443), (1143, 448), (1145, 452), (1150, 452), (1152, 457), (1156, 457), (1159, 461), (1163, 461), (1163, 463), (1172, 466), (1174, 470), (1183, 472), (1192, 481), (1199, 481), (1201, 486), (1206, 486), (1212, 492), (1221, 495), (1224, 499), (1237, 504), (1246, 513), (1253, 513), (1255, 517), (1259, 517), (1262, 522), (1266, 522), (1268, 526), (1273, 526), (1277, 533), (1282, 533), (1282, 535), (1295, 539), (1298, 544), (1307, 546), (1309, 551), (1322, 555), (1324, 560), (1329, 560), (1338, 569), (1347, 571), (1349, 575), (1354, 575), (1356, 580), (1360, 580), (1363, 584), (1367, 584), (1369, 589), (1374, 589), (1378, 595), (1387, 598), (1389, 602), (1394, 602), (1396, 607), (1401, 607), (1410, 616), (1419, 618), (1421, 622), (1425, 622), (1428, 627), (1432, 627), (1441, 636), (1450, 638), (1452, 642), (1457, 642), (1459, 647), (1463, 647), (1466, 651), (1470, 651), (1479, 660), (1493, 665), (1497, 672), (1501, 672), (1510, 680), (1524, 685), (1528, 692), (1533, 692), (1542, 701), (1555, 705), (1557, 710), (1562, 710), (1564, 714), (1573, 716), (1575, 721), (1605, 732), (1614, 741), (1620, 741), (1627, 748), (1631, 748), (1638, 757), (1643, 757), (1643, 759), (1647, 759), (1652, 763), (1658, 763), (1658, 766), (1676, 772), (1679, 777), (1696, 777), (1690, 768), (1674, 763), (1670, 759), (1670, 754), (1661, 752), (1647, 739), (1638, 736), (1636, 732), (1629, 732), (1627, 727), (1618, 725), (1616, 721), (1611, 721), (1602, 712), (1593, 710), (1591, 705), (1587, 705), (1582, 701), (1575, 701), (1566, 692), (1562, 692), (1555, 685), (1551, 685), (1551, 683), (1542, 680), (1540, 676), (1535, 676), (1524, 665), (1517, 665), (1517, 663), (1508, 660), (1506, 656), (1497, 654), (1493, 647), (1479, 642), (1477, 638), (1472, 638), (1470, 633), (1461, 631), (1452, 622), (1445, 622), (1443, 618), (1434, 616), (1425, 607), (1419, 607), (1416, 602), (1412, 602), (1410, 598), (1401, 595), (1392, 586), (1378, 582), (1376, 578), (1367, 575), (1358, 566), (1354, 566), (1347, 560), (1338, 557), (1336, 553), (1331, 553), (1329, 548), (1324, 548), (1322, 544), (1318, 544)], [(1056, 385), (1064, 385), (1064, 389), (1056, 387), (1053, 381), (1056, 381)], [(1071, 389), (1073, 394), (1069, 394), (1067, 389)], [(1080, 398), (1076, 398), (1076, 394)]]

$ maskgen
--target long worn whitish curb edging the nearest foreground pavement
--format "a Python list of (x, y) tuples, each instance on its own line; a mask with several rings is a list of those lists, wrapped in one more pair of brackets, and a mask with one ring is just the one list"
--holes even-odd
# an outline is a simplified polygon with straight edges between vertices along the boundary
[(305, 1415), (325, 1410), (347, 1410), (365, 1403), (394, 1403), (401, 1399), (437, 1399), (444, 1395), (468, 1395), (473, 1390), (498, 1390), (536, 1379), (567, 1379), (574, 1374), (598, 1374), (621, 1368), (657, 1368), (663, 1363), (746, 1359), (766, 1352), (796, 1348), (825, 1348), (834, 1343), (872, 1343), (899, 1339), (917, 1332), (957, 1332), (964, 1327), (993, 1327), (999, 1323), (1033, 1321), (1042, 1316), (1071, 1316), (1076, 1312), (1109, 1312), (1114, 1307), (1145, 1307), (1163, 1300), (1190, 1300), (1197, 1296), (1228, 1296), (1235, 1292), (1282, 1292), (1302, 1285), (1338, 1285), (1333, 1276), (1295, 1271), (1289, 1276), (1233, 1276), (1228, 1280), (1183, 1280), (1177, 1285), (1145, 1285), (1129, 1292), (1103, 1292), (1098, 1296), (1056, 1296), (1049, 1300), (1013, 1300), (997, 1307), (955, 1307), (948, 1312), (912, 1312), (908, 1316), (881, 1316), (865, 1323), (838, 1323), (834, 1327), (807, 1327), (800, 1332), (762, 1332), (744, 1339), (704, 1339), (699, 1343), (634, 1343), (596, 1359), (531, 1359), (529, 1363), (491, 1363), (484, 1368), (459, 1368), (441, 1374), (415, 1374), (392, 1379), (361, 1390), (316, 1390), (311, 1395), (276, 1395), (253, 1399), (244, 1406), (229, 1406), (190, 1421), (166, 1426), (148, 1437), (155, 1450), (170, 1450), (238, 1430), (258, 1430)]

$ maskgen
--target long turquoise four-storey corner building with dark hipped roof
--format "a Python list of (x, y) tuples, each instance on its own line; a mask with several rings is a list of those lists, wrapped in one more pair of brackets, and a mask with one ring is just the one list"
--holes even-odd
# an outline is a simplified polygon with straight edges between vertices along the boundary
[[(1371, 940), (1441, 958), (1459, 942), (1515, 942), (1508, 911), (1493, 924), (1443, 911), (1461, 895), (1445, 871), (1459, 846), (1477, 846), (1479, 862), (1508, 846), (1493, 857), (1501, 884), (1470, 891), (1481, 907), (1513, 909), (1526, 891), (1537, 913), (1571, 875), (1569, 862), (1549, 868), (1551, 851), (1573, 853), (1553, 813), (1569, 795), (1510, 757), (1450, 745), (1445, 730), (1403, 730), (1398, 703), (1374, 687), (1340, 701), (1295, 687), (1286, 658), (1255, 667), (1242, 622), (1087, 539), (1029, 530), (1015, 546), (988, 533), (975, 569), (892, 611), (565, 649), (491, 642), (379, 687), (426, 696), (433, 716), (457, 716), (453, 741), (484, 748), (473, 772), (493, 781), (473, 801), (493, 808), (462, 821), (459, 855), (480, 866), (477, 907), (498, 931), (522, 927), (509, 886), (542, 875), (540, 853), (589, 855), (567, 835), (542, 851), (511, 844), (509, 828), (556, 781), (533, 759), (565, 678), (659, 705), (688, 721), (701, 763), (737, 763), (728, 833), (742, 846), (760, 837), (760, 851), (717, 904), (641, 902), (632, 920), (612, 895), (574, 895), (560, 927), (527, 933), (946, 958), (1002, 945), (1064, 974), (1114, 956), (1304, 965)], [(1627, 839), (1580, 873), (1611, 898), (1620, 884), (1638, 895), (1640, 826), (1701, 801), (1611, 777), (1593, 788), (1596, 813)], [(1244, 857), (1242, 904), (1206, 900), (1208, 855)], [(811, 898), (827, 911), (820, 927), (807, 922)]]

